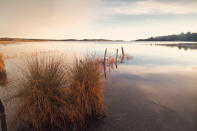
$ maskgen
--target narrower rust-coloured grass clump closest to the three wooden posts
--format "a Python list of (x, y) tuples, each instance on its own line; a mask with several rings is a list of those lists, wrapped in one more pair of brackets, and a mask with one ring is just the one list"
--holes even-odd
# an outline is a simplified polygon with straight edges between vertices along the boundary
[(102, 66), (95, 57), (76, 59), (70, 68), (70, 89), (86, 120), (104, 116)]

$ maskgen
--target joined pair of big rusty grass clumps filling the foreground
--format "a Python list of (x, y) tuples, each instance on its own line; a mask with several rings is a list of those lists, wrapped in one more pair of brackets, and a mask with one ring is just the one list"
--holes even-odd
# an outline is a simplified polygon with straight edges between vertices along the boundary
[(19, 82), (19, 130), (82, 130), (104, 115), (100, 64), (86, 57), (66, 66), (60, 57), (36, 55)]

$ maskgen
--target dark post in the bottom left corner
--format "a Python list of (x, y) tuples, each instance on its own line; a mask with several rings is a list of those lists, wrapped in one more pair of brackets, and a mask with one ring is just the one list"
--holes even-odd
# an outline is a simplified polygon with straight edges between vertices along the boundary
[(0, 99), (0, 123), (1, 123), (1, 131), (7, 131), (7, 124), (6, 124), (6, 116), (5, 116), (5, 109), (3, 103)]

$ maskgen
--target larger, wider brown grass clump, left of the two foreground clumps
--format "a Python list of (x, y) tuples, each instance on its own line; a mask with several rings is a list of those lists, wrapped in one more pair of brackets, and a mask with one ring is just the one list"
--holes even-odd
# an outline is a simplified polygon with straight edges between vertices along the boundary
[(36, 56), (26, 61), (26, 67), (19, 84), (23, 90), (15, 122), (26, 130), (66, 130), (76, 113), (67, 101), (62, 60), (55, 56)]

